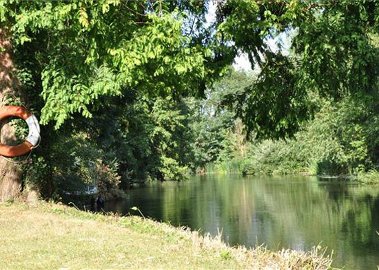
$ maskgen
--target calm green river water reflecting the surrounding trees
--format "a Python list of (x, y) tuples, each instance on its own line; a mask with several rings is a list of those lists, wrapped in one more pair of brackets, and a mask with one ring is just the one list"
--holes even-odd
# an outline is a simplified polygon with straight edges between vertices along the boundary
[(333, 250), (334, 267), (378, 269), (379, 187), (316, 177), (206, 175), (151, 183), (106, 210), (187, 225), (230, 245)]

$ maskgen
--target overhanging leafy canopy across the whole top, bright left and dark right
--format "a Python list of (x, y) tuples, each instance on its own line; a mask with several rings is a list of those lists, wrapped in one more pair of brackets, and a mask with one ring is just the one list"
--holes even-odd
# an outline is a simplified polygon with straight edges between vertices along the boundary
[[(198, 95), (238, 54), (260, 76), (229, 96), (249, 131), (293, 134), (322, 95), (373, 91), (377, 1), (1, 1), (0, 21), (41, 76), (41, 121), (58, 128), (73, 113), (92, 115), (103, 96)], [(290, 54), (267, 38), (294, 36)], [(30, 55), (29, 55), (30, 57)]]

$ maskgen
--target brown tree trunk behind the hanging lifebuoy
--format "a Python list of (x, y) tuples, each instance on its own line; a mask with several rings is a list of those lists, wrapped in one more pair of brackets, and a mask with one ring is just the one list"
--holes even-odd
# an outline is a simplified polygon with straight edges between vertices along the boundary
[[(10, 96), (20, 96), (21, 85), (14, 73), (13, 48), (9, 34), (0, 29), (0, 108), (6, 105)], [(14, 144), (14, 128), (9, 124), (1, 126), (1, 143)], [(19, 164), (13, 164), (0, 157), (0, 201), (14, 199), (21, 191), (22, 170)]]

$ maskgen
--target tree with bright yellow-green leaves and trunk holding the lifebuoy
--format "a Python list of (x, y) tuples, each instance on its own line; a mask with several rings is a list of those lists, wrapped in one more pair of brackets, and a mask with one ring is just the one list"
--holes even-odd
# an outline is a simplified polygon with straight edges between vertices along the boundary
[[(34, 109), (41, 108), (41, 124), (53, 121), (56, 129), (79, 113), (92, 117), (105, 97), (127, 91), (201, 95), (216, 74), (207, 64), (214, 56), (198, 30), (204, 12), (203, 2), (0, 1), (0, 33), (8, 33), (0, 36), (0, 60), (6, 63), (1, 95), (17, 80), (10, 74), (16, 67), (13, 51), (17, 68), (34, 81), (25, 98), (36, 103), (42, 97)], [(11, 133), (3, 128), (2, 135)], [(13, 168), (0, 164), (6, 190), (20, 183), (21, 173)]]

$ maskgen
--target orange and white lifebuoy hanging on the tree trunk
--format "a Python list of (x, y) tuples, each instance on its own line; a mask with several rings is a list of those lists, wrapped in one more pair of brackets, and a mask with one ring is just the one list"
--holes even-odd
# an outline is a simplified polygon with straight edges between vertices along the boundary
[(0, 143), (0, 155), (4, 157), (19, 157), (29, 153), (34, 146), (37, 146), (40, 139), (39, 122), (35, 115), (32, 115), (21, 106), (3, 106), (0, 109), (0, 121), (8, 117), (20, 117), (28, 124), (29, 134), (25, 142), (17, 146), (7, 146)]

